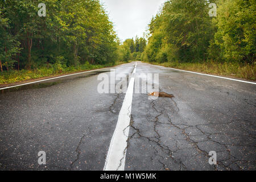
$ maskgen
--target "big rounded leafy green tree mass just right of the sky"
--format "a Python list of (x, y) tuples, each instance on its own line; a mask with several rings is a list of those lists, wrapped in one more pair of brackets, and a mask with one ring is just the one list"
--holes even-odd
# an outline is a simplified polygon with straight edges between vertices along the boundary
[(147, 59), (159, 63), (203, 61), (213, 36), (207, 5), (205, 0), (167, 1), (149, 25)]

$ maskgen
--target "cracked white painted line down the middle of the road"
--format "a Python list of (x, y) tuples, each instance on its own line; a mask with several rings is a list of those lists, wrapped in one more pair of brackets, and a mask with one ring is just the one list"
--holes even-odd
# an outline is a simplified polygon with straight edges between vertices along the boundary
[[(136, 68), (134, 68), (133, 73), (135, 72)], [(133, 101), (134, 80), (135, 78), (131, 77), (125, 94), (125, 99), (123, 100), (122, 108), (119, 112), (117, 126), (115, 127), (115, 131), (110, 142), (104, 171), (125, 170), (125, 157), (131, 121), (131, 103)]]

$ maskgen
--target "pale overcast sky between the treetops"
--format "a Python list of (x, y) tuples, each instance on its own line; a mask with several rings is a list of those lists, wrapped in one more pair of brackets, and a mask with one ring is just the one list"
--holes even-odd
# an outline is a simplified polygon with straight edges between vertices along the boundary
[(118, 37), (128, 38), (143, 36), (147, 24), (166, 0), (100, 0), (114, 23)]

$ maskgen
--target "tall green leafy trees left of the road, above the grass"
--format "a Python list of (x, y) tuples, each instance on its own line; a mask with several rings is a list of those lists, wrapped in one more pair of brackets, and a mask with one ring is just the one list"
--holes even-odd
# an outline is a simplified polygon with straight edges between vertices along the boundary
[[(114, 64), (117, 36), (98, 0), (45, 0), (46, 17), (38, 16), (39, 0), (0, 2), (0, 60), (3, 70)], [(0, 62), (1, 63), (1, 62)]]

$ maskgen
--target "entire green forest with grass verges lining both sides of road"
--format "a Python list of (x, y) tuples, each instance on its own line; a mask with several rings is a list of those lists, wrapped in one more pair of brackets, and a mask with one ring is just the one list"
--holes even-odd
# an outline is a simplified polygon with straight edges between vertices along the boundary
[[(39, 16), (39, 3), (47, 6)], [(210, 17), (209, 3), (217, 16)], [(255, 0), (170, 0), (143, 38), (121, 42), (98, 0), (1, 0), (0, 84), (131, 60), (256, 79)]]

